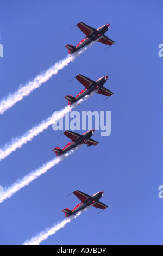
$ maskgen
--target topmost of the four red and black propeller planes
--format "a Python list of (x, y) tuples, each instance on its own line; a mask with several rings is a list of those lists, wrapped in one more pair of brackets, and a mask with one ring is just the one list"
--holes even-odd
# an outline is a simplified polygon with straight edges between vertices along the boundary
[(106, 31), (108, 31), (108, 28), (110, 27), (110, 24), (103, 25), (102, 27), (95, 29), (88, 25), (86, 25), (84, 22), (80, 21), (77, 24), (78, 28), (82, 30), (82, 32), (86, 35), (86, 38), (84, 38), (82, 41), (79, 42), (77, 46), (73, 45), (66, 45), (65, 47), (68, 49), (69, 54), (72, 54), (81, 48), (85, 47), (86, 45), (89, 45), (92, 41), (98, 40), (98, 42), (102, 42), (102, 44), (111, 46), (115, 42), (112, 41), (110, 38), (108, 38), (106, 35)]

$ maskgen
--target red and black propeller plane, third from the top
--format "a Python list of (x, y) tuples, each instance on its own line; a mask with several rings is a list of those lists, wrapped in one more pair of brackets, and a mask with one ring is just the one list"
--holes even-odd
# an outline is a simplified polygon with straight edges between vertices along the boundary
[(93, 135), (95, 130), (90, 130), (85, 132), (83, 135), (76, 133), (76, 132), (72, 132), (72, 131), (65, 131), (64, 135), (66, 135), (68, 138), (71, 139), (71, 142), (69, 142), (63, 149), (60, 149), (58, 146), (55, 147), (55, 149), (53, 149), (53, 151), (55, 152), (56, 156), (60, 156), (62, 154), (65, 154), (67, 151), (76, 148), (77, 145), (80, 144), (85, 144), (87, 145), (87, 147), (90, 146), (96, 146), (97, 144), (99, 144), (99, 142), (94, 141), (93, 139), (90, 139)]

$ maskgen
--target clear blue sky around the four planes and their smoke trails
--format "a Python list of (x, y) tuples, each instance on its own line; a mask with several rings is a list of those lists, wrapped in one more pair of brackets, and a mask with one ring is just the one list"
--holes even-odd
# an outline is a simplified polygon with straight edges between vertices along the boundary
[[(82, 147), (0, 205), (0, 244), (20, 245), (64, 218), (73, 209), (78, 189), (87, 194), (104, 190), (101, 214), (91, 208), (42, 245), (162, 245), (162, 1), (1, 1), (0, 95), (8, 96), (49, 66), (67, 56), (66, 44), (84, 38), (79, 21), (106, 32), (116, 43), (108, 50), (95, 44), (1, 115), (0, 145), (23, 135), (67, 105), (82, 85), (83, 74), (97, 80), (103, 74), (114, 92), (109, 100), (93, 95), (77, 111), (111, 111), (111, 135), (89, 151)], [(82, 131), (80, 131), (82, 133)], [(84, 133), (85, 131), (83, 131)], [(53, 159), (52, 149), (68, 138), (49, 127), (33, 141), (0, 162), (0, 185), (10, 186)]]

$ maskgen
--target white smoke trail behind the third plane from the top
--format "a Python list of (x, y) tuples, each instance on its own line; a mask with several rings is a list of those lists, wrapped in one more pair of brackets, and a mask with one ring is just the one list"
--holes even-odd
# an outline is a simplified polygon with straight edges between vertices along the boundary
[(24, 178), (22, 178), (21, 180), (17, 180), (9, 188), (4, 188), (3, 190), (4, 192), (0, 195), (0, 203), (3, 203), (7, 198), (10, 198), (11, 196), (13, 196), (17, 191), (21, 190), (21, 188), (28, 186), (33, 180), (39, 178), (42, 174), (46, 173), (53, 166), (56, 166), (57, 164), (59, 164), (62, 160), (64, 160), (65, 157), (68, 157), (80, 147), (81, 145), (68, 151), (66, 154), (59, 156), (58, 158), (55, 158), (47, 162), (46, 164), (43, 164), (42, 167), (24, 176)]

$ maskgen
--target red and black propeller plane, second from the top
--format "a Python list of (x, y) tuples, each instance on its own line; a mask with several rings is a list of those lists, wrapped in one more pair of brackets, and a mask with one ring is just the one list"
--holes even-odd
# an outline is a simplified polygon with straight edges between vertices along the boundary
[(90, 78), (87, 78), (86, 76), (83, 76), (81, 74), (78, 74), (75, 78), (80, 83), (82, 83), (86, 89), (82, 90), (76, 97), (73, 97), (72, 95), (67, 95), (65, 99), (68, 100), (68, 105), (72, 105), (74, 102), (77, 102), (86, 95), (91, 94), (91, 92), (96, 92), (108, 97), (114, 94), (103, 86), (104, 83), (106, 83), (106, 81), (108, 80), (108, 76), (103, 76), (97, 81), (93, 81)]

